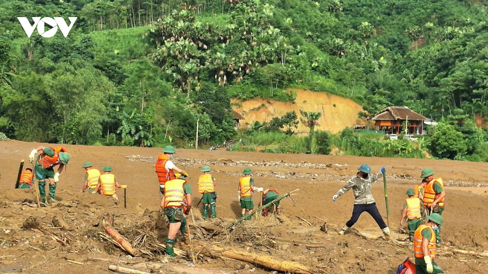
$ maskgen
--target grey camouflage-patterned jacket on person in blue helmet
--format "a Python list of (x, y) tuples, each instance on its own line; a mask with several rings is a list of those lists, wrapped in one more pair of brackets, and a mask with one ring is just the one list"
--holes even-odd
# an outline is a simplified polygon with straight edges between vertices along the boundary
[(374, 183), (381, 177), (383, 177), (381, 172), (377, 174), (372, 173), (367, 179), (363, 179), (356, 175), (349, 179), (347, 184), (337, 192), (337, 195), (342, 196), (352, 188), (352, 193), (354, 193), (354, 204), (372, 204), (375, 201), (373, 193), (371, 192), (371, 183)]

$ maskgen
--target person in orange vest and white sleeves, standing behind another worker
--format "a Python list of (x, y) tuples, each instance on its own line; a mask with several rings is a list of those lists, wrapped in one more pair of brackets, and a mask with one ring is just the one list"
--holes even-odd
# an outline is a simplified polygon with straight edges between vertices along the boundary
[(159, 191), (161, 194), (164, 193), (164, 184), (167, 181), (175, 179), (174, 171), (180, 173), (181, 175), (188, 177), (188, 173), (186, 171), (179, 169), (173, 163), (173, 154), (175, 154), (175, 148), (173, 146), (165, 146), (164, 149), (161, 151), (161, 154), (158, 156), (156, 160), (156, 175), (158, 176), (159, 181)]

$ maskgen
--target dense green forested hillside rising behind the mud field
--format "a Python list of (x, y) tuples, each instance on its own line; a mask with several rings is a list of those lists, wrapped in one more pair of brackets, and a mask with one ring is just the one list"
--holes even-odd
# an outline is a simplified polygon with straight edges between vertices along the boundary
[[(5, 0), (0, 132), (20, 140), (186, 146), (233, 138), (230, 98), (405, 105), (486, 141), (486, 3), (459, 0)], [(27, 38), (17, 17), (76, 16)], [(32, 21), (31, 21), (32, 22)], [(462, 122), (461, 122), (462, 121)], [(450, 126), (450, 127), (449, 127)], [(445, 134), (441, 134), (445, 135)], [(437, 140), (433, 140), (437, 141)], [(433, 142), (435, 143), (435, 142)]]

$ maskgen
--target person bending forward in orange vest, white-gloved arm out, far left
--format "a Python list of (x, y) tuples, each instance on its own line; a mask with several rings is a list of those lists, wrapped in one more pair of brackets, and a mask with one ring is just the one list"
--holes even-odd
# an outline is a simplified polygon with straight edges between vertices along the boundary
[[(34, 165), (34, 173), (36, 174), (36, 179), (39, 180), (39, 196), (41, 196), (42, 203), (48, 205), (48, 200), (46, 199), (46, 179), (49, 180), (49, 201), (58, 202), (55, 199), (56, 195), (56, 183), (60, 180), (60, 174), (65, 165), (68, 164), (69, 154), (63, 147), (45, 147), (39, 146), (33, 149), (29, 154), (30, 161), (34, 161), (36, 153), (42, 151), (37, 157), (36, 163)], [(59, 165), (58, 172), (54, 173), (54, 166)]]

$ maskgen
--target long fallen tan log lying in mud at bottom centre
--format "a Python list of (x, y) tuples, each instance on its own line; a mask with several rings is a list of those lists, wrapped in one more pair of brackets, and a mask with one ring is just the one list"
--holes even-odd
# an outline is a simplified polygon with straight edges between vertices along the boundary
[(204, 247), (193, 246), (193, 250), (197, 253), (203, 254), (209, 257), (217, 258), (231, 258), (240, 260), (253, 265), (260, 266), (265, 269), (275, 270), (284, 273), (296, 273), (296, 274), (312, 274), (313, 271), (310, 267), (292, 261), (277, 260), (271, 256), (259, 255), (255, 253), (249, 253), (240, 250), (225, 249), (218, 246)]

